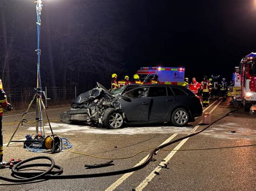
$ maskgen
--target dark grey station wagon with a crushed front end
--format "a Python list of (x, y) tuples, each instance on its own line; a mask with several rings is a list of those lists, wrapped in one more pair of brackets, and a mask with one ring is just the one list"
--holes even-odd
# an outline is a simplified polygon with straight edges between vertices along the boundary
[(108, 91), (100, 83), (72, 101), (72, 107), (60, 118), (62, 122), (82, 122), (117, 129), (126, 124), (171, 122), (186, 126), (201, 116), (200, 98), (189, 89), (167, 84), (123, 86)]

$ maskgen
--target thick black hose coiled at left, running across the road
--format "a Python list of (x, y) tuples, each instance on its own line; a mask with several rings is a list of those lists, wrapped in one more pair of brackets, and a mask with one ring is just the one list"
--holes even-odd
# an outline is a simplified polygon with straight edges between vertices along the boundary
[[(150, 159), (152, 159), (153, 155), (160, 150), (161, 148), (164, 148), (166, 146), (169, 146), (171, 144), (180, 142), (183, 139), (186, 139), (188, 137), (192, 137), (195, 136), (203, 131), (205, 131), (207, 128), (209, 128), (212, 124), (220, 121), (221, 119), (223, 119), (224, 117), (228, 116), (231, 112), (237, 111), (237, 109), (232, 110), (230, 112), (228, 112), (225, 116), (220, 117), (219, 119), (215, 120), (214, 122), (212, 122), (211, 124), (207, 125), (205, 128), (201, 129), (200, 131), (196, 131), (193, 133), (190, 133), (187, 136), (178, 138), (176, 140), (172, 140), (170, 142), (167, 142), (157, 148), (152, 149), (152, 151), (149, 153), (147, 159), (140, 165), (138, 166), (134, 166), (131, 168), (127, 168), (127, 169), (122, 169), (119, 171), (112, 171), (112, 172), (103, 172), (103, 173), (95, 173), (95, 174), (72, 174), (72, 175), (60, 175), (63, 173), (63, 168), (61, 166), (55, 165), (55, 161), (51, 158), (51, 157), (47, 157), (47, 156), (39, 156), (39, 157), (33, 157), (30, 159), (26, 159), (24, 161), (19, 162), (17, 165), (15, 165), (12, 168), (12, 174), (18, 178), (18, 179), (10, 179), (10, 178), (6, 178), (4, 176), (0, 176), (0, 180), (5, 180), (5, 181), (9, 181), (9, 182), (30, 182), (33, 180), (47, 180), (47, 179), (83, 179), (83, 178), (93, 178), (93, 177), (99, 177), (99, 176), (112, 176), (112, 175), (118, 175), (118, 174), (124, 174), (124, 173), (129, 173), (129, 172), (133, 172), (133, 171), (137, 171), (138, 169), (141, 169), (143, 167), (145, 167)], [(37, 159), (47, 159), (50, 160), (51, 164), (29, 164), (29, 165), (23, 165), (26, 162), (29, 161), (33, 161), (33, 160), (37, 160)], [(43, 173), (40, 172), (21, 172), (21, 169), (24, 168), (28, 168), (28, 167), (38, 167), (38, 166), (44, 166), (44, 167), (49, 167), (48, 170), (44, 171)], [(57, 171), (52, 171), (53, 168), (56, 168)]]

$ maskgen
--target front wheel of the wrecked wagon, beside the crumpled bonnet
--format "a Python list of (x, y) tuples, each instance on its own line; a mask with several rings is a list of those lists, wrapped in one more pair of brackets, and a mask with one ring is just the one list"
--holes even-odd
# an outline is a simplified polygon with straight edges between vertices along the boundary
[(103, 115), (103, 127), (107, 129), (118, 129), (123, 126), (124, 118), (116, 109), (107, 108)]

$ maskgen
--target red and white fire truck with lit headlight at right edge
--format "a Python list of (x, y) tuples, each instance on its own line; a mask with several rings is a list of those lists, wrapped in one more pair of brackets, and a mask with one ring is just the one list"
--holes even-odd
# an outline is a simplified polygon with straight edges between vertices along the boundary
[(256, 53), (245, 56), (239, 65), (241, 75), (241, 99), (244, 110), (250, 111), (250, 107), (256, 104)]

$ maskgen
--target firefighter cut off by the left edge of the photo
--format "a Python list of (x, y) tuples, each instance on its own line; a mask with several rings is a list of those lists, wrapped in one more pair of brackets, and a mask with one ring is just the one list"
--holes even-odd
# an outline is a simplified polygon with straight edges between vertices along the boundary
[(5, 92), (3, 90), (2, 80), (0, 79), (0, 166), (3, 162), (3, 133), (2, 133), (2, 119), (3, 108), (10, 111), (12, 109), (11, 104), (7, 102)]

